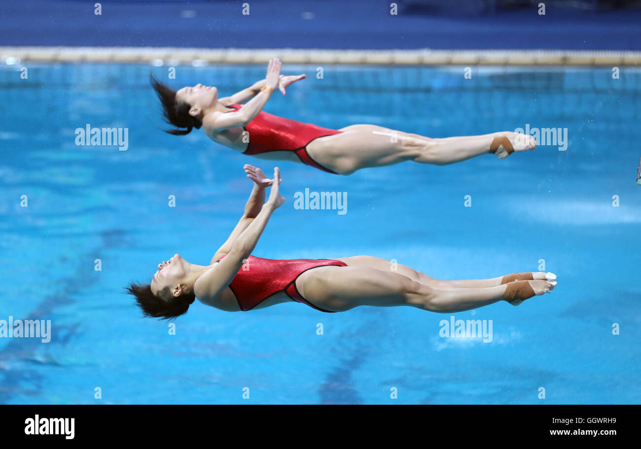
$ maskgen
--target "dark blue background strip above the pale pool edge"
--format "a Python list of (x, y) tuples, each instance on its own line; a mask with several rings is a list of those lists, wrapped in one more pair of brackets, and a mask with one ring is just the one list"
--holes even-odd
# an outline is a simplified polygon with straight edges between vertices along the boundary
[[(351, 49), (641, 49), (641, 12), (612, 2), (3, 0), (0, 45)], [(510, 3), (510, 4), (513, 4)], [(449, 5), (449, 6), (448, 6)]]

